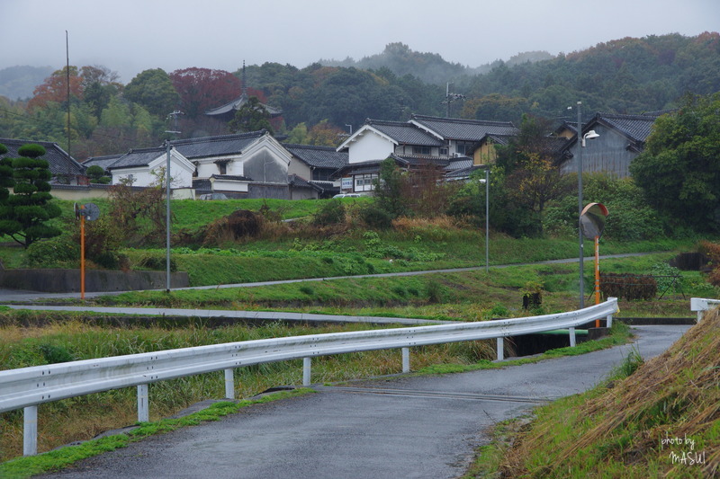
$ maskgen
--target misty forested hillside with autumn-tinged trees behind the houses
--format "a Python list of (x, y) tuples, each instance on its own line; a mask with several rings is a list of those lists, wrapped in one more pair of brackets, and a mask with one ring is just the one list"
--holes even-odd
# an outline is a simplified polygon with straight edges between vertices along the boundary
[[(524, 113), (562, 118), (578, 101), (588, 112), (637, 113), (675, 108), (685, 93), (720, 91), (716, 32), (626, 38), (543, 58), (544, 52), (521, 54), (478, 74), (395, 43), (358, 62), (318, 62), (304, 68), (265, 63), (248, 66), (246, 75), (250, 95), (283, 110), (273, 120), (275, 134), (288, 135), (293, 143), (322, 145), (338, 144), (341, 134), (367, 118), (445, 116), (446, 83), (454, 83), (453, 92), (464, 95), (450, 105), (451, 116), (516, 124)], [(237, 98), (241, 77), (239, 65), (235, 72), (156, 68), (121, 84), (112, 66), (71, 66), (71, 154), (83, 160), (157, 146), (168, 129), (167, 114), (176, 109), (186, 113), (178, 125), (181, 137), (229, 133), (227, 123), (206, 118), (202, 111)], [(40, 84), (29, 101), (0, 96), (0, 137), (68, 147), (64, 68)]]

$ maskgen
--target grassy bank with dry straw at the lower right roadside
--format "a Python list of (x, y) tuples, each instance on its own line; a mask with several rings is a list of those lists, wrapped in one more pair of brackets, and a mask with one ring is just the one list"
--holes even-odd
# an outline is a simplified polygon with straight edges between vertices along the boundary
[(662, 355), (502, 424), (465, 477), (717, 477), (718, 328), (716, 309)]

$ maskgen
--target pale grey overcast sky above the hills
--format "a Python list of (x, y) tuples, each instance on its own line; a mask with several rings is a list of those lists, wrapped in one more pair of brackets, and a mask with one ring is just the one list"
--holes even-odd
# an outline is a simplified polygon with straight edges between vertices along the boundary
[(187, 67), (359, 60), (402, 42), (480, 67), (625, 37), (720, 31), (720, 0), (0, 0), (0, 69), (102, 65), (128, 83)]

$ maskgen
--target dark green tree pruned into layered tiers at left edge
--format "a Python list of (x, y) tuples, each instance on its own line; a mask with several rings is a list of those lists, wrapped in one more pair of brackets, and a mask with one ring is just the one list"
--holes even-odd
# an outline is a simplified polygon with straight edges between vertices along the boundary
[(51, 203), (49, 179), (52, 176), (49, 163), (40, 158), (45, 148), (40, 145), (23, 145), (18, 148), (19, 158), (4, 158), (0, 161), (0, 180), (7, 181), (7, 166), (13, 170), (14, 194), (5, 200), (0, 193), (0, 234), (9, 235), (24, 247), (41, 238), (51, 238), (60, 230), (45, 223), (60, 215), (60, 208)]

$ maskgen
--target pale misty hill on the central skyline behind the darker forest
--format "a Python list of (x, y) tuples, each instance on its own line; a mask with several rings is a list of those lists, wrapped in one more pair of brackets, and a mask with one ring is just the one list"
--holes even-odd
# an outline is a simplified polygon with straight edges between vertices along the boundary
[[(518, 53), (508, 60), (507, 65), (512, 66), (550, 58), (553, 56), (546, 51)], [(462, 75), (487, 73), (502, 62), (498, 60), (481, 67), (464, 67), (459, 63), (446, 61), (437, 53), (420, 53), (410, 49), (404, 43), (397, 42), (389, 43), (382, 53), (358, 61), (353, 58), (341, 61), (321, 59), (319, 63), (327, 67), (355, 67), (362, 70), (379, 70), (384, 67), (398, 76), (413, 75), (428, 84), (446, 84)]]

